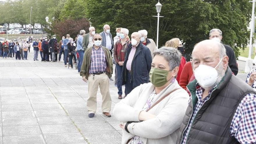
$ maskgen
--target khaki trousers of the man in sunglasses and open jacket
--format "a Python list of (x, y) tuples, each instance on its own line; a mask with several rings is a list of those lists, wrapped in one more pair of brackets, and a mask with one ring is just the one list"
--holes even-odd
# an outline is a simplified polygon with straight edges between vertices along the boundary
[(95, 74), (94, 76), (90, 74), (88, 77), (88, 99), (86, 103), (88, 113), (96, 113), (98, 88), (102, 95), (102, 112), (110, 113), (111, 97), (109, 93), (109, 77), (106, 73), (100, 75)]

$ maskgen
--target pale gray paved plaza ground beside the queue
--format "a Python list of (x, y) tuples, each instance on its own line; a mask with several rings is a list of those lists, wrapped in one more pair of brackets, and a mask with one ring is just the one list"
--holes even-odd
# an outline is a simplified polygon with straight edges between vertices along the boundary
[[(88, 118), (88, 85), (62, 62), (0, 58), (0, 144), (118, 144), (119, 122), (97, 112)], [(40, 60), (40, 54), (38, 56)], [(114, 76), (113, 76), (114, 79)], [(120, 100), (110, 81), (112, 110)]]

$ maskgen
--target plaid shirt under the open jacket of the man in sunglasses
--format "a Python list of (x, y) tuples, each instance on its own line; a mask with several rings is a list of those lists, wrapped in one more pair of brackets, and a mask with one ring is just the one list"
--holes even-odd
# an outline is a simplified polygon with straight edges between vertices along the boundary
[(89, 74), (106, 72), (106, 56), (102, 47), (92, 50)]

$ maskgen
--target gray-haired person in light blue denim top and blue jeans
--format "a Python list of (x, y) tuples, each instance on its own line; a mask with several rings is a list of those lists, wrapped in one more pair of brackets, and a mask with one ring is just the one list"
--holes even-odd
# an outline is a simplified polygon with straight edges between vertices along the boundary
[(81, 65), (83, 62), (83, 54), (84, 54), (84, 49), (83, 49), (83, 36), (85, 35), (85, 30), (80, 31), (80, 35), (77, 36), (77, 53), (79, 54), (79, 59), (78, 59), (78, 64), (77, 64), (77, 69), (78, 72), (80, 72)]

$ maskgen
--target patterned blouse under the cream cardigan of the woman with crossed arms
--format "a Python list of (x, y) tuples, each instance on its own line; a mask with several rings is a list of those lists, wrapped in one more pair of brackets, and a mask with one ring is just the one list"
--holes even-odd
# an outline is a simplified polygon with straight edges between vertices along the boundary
[[(147, 99), (147, 102), (146, 102), (146, 104), (145, 104), (145, 106), (143, 107), (143, 111), (147, 111), (147, 109), (149, 109), (150, 108), (150, 106), (152, 106), (152, 104), (153, 104), (153, 100), (154, 100), (154, 98), (156, 97), (156, 91), (154, 90), (152, 93), (151, 93), (151, 95), (150, 95), (150, 97)], [(142, 137), (140, 137), (140, 136), (134, 136), (132, 139), (131, 139), (131, 141), (130, 141), (130, 143), (129, 144), (143, 144), (143, 141), (142, 141)]]

